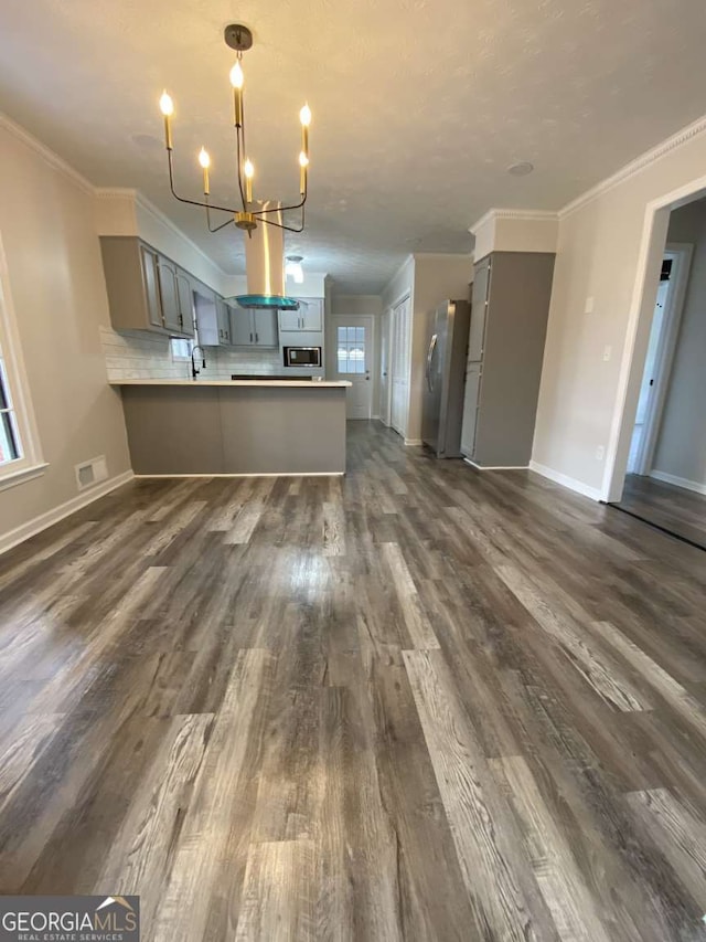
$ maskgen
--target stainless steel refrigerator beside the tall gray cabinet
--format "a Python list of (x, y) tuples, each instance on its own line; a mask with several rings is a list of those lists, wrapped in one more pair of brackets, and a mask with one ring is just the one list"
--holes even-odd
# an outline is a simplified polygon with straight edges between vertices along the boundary
[(470, 320), (467, 300), (447, 300), (429, 316), (421, 440), (439, 458), (461, 457)]

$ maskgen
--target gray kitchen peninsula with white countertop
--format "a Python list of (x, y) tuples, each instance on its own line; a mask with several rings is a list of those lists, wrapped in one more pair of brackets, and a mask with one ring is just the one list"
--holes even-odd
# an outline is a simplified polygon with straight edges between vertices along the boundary
[(345, 473), (350, 382), (119, 380), (137, 475)]

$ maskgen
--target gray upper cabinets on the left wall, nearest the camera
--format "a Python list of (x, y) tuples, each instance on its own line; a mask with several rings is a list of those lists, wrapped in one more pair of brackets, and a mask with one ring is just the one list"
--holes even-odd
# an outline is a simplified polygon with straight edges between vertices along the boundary
[(191, 276), (135, 236), (100, 236), (110, 320), (116, 330), (193, 337)]

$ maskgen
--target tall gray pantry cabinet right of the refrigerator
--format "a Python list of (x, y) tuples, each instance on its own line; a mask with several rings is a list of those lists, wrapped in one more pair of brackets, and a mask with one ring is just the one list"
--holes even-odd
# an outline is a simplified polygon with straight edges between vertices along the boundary
[(461, 452), (479, 467), (530, 463), (554, 257), (493, 252), (475, 265)]

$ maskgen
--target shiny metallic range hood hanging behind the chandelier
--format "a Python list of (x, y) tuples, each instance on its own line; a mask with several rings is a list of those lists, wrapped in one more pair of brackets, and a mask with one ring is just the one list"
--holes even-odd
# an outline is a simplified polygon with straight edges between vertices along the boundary
[[(279, 203), (264, 202), (261, 209), (279, 209)], [(268, 213), (272, 222), (281, 223), (280, 212)], [(285, 231), (258, 221), (257, 229), (245, 239), (247, 294), (235, 300), (240, 307), (297, 310), (299, 301), (285, 294)]]

